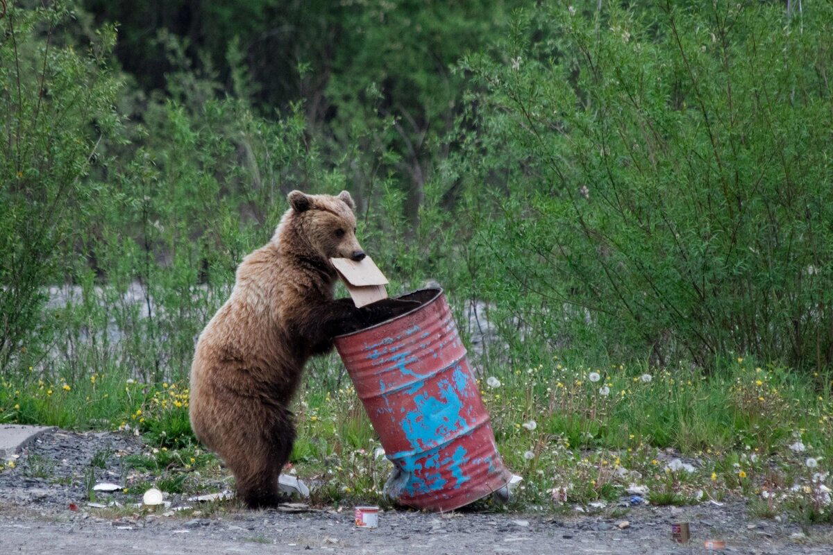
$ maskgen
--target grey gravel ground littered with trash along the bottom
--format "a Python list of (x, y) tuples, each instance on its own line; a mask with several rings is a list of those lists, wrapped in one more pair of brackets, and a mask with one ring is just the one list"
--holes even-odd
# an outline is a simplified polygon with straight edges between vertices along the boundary
[[(99, 454), (105, 468), (94, 469), (96, 480), (122, 483), (128, 476), (118, 455), (141, 450), (138, 438), (122, 434), (45, 434), (22, 453), (16, 468), (0, 473), (2, 553), (715, 553), (706, 552), (705, 539), (725, 540), (724, 553), (833, 553), (833, 528), (802, 531), (795, 524), (748, 518), (741, 502), (639, 507), (619, 518), (385, 511), (373, 530), (353, 526), (352, 508), (285, 513), (229, 506), (212, 512), (203, 504), (197, 513), (148, 513), (132, 508), (138, 494), (125, 493), (98, 499), (118, 500), (122, 508), (87, 506), (84, 469), (96, 454), (110, 453)], [(187, 503), (181, 496), (170, 500), (172, 508)], [(69, 510), (69, 503), (78, 510)], [(625, 519), (628, 526), (619, 528)], [(691, 523), (691, 543), (671, 542), (670, 525), (678, 521)]]

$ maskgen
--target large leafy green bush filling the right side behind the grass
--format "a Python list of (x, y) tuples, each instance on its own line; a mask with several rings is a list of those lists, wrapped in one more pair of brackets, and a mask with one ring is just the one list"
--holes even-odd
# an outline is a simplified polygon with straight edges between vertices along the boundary
[(461, 64), (482, 285), (609, 352), (831, 364), (833, 7), (585, 5)]

